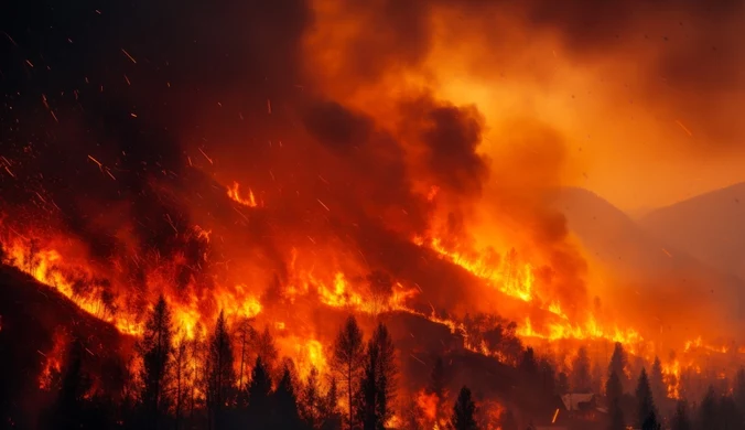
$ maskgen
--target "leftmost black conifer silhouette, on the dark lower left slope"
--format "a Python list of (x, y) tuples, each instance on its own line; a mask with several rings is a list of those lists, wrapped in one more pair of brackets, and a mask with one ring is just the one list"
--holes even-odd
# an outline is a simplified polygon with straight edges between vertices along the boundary
[(73, 341), (67, 355), (67, 368), (64, 370), (53, 410), (52, 429), (79, 429), (83, 423), (84, 395), (90, 387), (88, 377), (83, 373), (83, 351), (84, 346), (80, 341)]

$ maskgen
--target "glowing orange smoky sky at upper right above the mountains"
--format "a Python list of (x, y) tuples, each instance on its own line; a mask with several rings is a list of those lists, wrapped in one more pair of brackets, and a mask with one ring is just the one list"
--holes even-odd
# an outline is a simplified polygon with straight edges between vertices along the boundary
[(305, 57), (321, 92), (378, 118), (387, 99), (421, 88), (474, 104), (492, 159), (514, 143), (506, 123), (530, 118), (564, 148), (562, 178), (546, 185), (583, 186), (630, 213), (745, 181), (745, 68), (733, 55), (743, 14), (731, 4), (574, 1), (566, 17), (540, 2), (435, 3), (391, 21), (317, 0)]

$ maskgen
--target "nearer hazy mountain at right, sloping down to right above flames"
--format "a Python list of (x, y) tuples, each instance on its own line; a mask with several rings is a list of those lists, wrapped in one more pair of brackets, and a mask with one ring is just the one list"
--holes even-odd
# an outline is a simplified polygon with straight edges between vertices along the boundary
[(745, 281), (660, 240), (587, 190), (559, 190), (553, 207), (582, 243), (591, 270), (600, 270), (603, 283), (613, 286), (607, 302), (638, 302), (638, 312), (657, 314), (662, 325), (684, 321), (691, 331), (711, 326), (712, 318), (720, 324), (745, 323)]

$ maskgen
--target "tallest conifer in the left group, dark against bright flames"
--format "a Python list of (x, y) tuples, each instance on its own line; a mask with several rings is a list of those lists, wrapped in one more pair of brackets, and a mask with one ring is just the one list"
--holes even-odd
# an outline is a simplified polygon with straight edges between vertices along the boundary
[(171, 406), (168, 385), (173, 367), (172, 337), (171, 311), (161, 295), (145, 323), (142, 340), (138, 343), (138, 352), (142, 357), (142, 418), (144, 426), (152, 429), (163, 427), (161, 421)]

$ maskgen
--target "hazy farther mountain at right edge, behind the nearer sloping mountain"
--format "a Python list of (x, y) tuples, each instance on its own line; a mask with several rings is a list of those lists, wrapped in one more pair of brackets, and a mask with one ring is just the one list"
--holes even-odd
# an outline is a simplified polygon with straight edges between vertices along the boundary
[(745, 279), (745, 183), (659, 208), (639, 223), (671, 246)]

